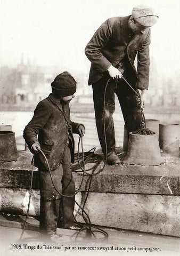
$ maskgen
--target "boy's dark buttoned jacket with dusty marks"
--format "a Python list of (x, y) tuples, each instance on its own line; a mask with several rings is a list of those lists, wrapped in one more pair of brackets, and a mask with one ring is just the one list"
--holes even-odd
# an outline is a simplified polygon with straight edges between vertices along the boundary
[[(51, 170), (54, 170), (61, 164), (67, 142), (70, 145), (71, 162), (74, 161), (75, 142), (72, 133), (78, 133), (79, 125), (70, 120), (69, 104), (61, 104), (51, 93), (38, 103), (34, 116), (24, 129), (23, 137), (29, 149), (33, 143), (40, 144)], [(42, 162), (43, 157), (40, 153), (36, 154), (35, 165), (44, 169)]]

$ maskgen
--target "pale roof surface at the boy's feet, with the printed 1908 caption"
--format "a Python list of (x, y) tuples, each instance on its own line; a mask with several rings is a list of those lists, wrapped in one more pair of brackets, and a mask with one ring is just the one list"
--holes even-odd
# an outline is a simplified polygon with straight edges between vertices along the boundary
[(177, 237), (105, 227), (101, 228), (109, 235), (106, 241), (102, 239), (104, 236), (101, 233), (96, 233), (97, 239), (94, 239), (93, 237), (87, 237), (86, 231), (84, 230), (76, 238), (78, 231), (58, 229), (58, 234), (62, 234), (62, 236), (54, 242), (39, 237), (39, 223), (32, 217), (28, 218), (27, 227), (22, 239), (19, 240), (24, 219), (24, 217), (1, 215), (0, 249), (2, 256), (179, 256), (179, 238)]

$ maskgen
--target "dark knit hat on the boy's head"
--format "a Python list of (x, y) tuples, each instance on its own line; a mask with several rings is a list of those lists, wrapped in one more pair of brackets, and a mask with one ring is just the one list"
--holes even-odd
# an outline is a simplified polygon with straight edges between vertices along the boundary
[(76, 81), (69, 74), (68, 71), (64, 71), (55, 77), (51, 83), (52, 90), (54, 89), (61, 97), (73, 95), (76, 92)]

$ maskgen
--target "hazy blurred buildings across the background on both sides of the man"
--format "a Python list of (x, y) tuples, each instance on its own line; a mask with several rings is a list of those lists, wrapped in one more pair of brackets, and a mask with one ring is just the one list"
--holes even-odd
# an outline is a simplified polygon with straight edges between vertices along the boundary
[[(148, 106), (180, 106), (180, 71), (172, 77), (161, 77), (158, 69), (151, 61), (150, 85), (146, 105)], [(22, 54), (21, 63), (15, 68), (1, 67), (1, 106), (16, 106), (34, 108), (37, 103), (51, 93), (51, 82), (55, 76), (63, 72), (62, 67), (38, 66), (27, 60), (24, 63)], [(69, 70), (68, 70), (69, 71)], [(87, 73), (80, 70), (70, 70), (77, 81), (75, 100), (78, 103), (92, 103), (92, 89), (87, 85)]]

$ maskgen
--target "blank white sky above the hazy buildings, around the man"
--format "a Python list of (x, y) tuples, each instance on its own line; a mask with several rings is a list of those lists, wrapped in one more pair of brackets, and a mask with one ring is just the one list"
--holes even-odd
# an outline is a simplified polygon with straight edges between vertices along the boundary
[[(88, 41), (108, 18), (126, 16), (133, 6), (154, 7), (158, 22), (151, 28), (150, 54), (161, 76), (174, 76), (180, 63), (179, 0), (0, 0), (0, 65), (58, 66), (88, 72)], [(153, 68), (153, 67), (152, 67)], [(156, 74), (157, 75), (157, 74)]]

